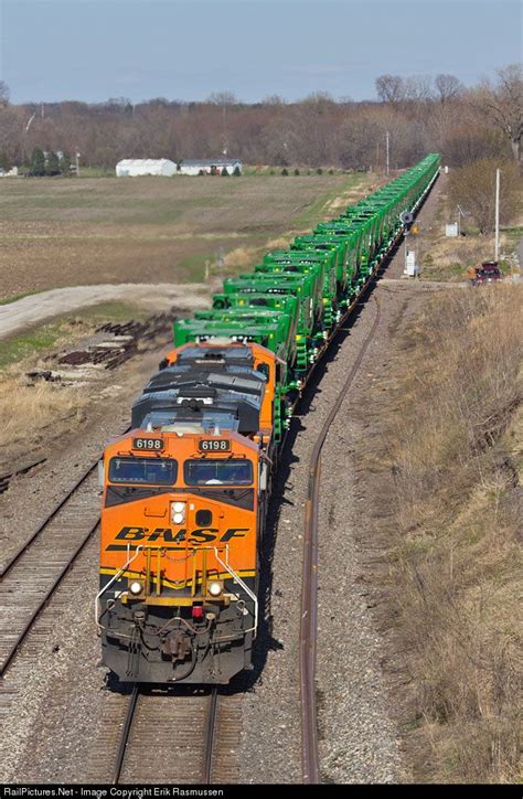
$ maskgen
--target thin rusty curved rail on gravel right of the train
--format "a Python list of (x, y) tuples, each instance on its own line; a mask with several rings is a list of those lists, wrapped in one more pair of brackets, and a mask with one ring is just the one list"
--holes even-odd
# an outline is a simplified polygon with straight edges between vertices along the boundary
[(380, 324), (381, 308), (376, 303), (376, 316), (372, 328), (360, 348), (357, 358), (338, 394), (334, 404), (318, 435), (308, 471), (307, 500), (305, 507), (303, 566), (301, 583), (300, 615), (300, 696), (301, 696), (301, 771), (306, 784), (319, 782), (318, 720), (316, 706), (316, 656), (318, 618), (318, 511), (320, 499), (321, 450), (329, 429), (357, 374), (371, 341)]

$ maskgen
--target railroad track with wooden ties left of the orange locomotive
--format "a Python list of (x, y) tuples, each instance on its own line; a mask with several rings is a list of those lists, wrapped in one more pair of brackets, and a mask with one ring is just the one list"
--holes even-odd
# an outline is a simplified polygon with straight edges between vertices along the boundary
[(75, 482), (0, 573), (0, 677), (63, 578), (94, 536), (97, 462)]

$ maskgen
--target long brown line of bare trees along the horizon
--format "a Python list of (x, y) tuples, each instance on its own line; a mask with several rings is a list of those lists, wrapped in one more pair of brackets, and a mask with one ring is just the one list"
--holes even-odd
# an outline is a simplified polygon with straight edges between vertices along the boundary
[[(456, 76), (381, 75), (377, 100), (334, 100), (316, 93), (297, 103), (278, 96), (241, 103), (227, 92), (204, 103), (127, 98), (86, 104), (12, 105), (0, 82), (0, 158), (31, 166), (33, 152), (79, 152), (82, 163), (113, 169), (122, 158), (215, 158), (289, 169), (383, 169), (428, 151), (460, 167), (479, 158), (519, 162), (523, 132), (521, 66), (465, 87)], [(55, 164), (56, 166), (56, 164)]]

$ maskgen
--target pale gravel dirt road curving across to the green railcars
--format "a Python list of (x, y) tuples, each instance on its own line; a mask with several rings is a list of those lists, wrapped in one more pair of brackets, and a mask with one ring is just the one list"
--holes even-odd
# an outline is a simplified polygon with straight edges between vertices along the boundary
[(100, 302), (122, 300), (157, 311), (168, 310), (172, 306), (184, 310), (207, 308), (209, 296), (210, 289), (202, 284), (124, 283), (56, 288), (1, 306), (0, 339), (20, 333), (63, 313)]

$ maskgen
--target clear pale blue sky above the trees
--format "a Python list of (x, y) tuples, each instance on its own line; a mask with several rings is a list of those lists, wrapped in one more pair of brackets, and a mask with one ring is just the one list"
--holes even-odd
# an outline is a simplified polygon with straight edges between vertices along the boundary
[(521, 60), (519, 0), (0, 0), (12, 103), (373, 99), (384, 73), (473, 85)]

